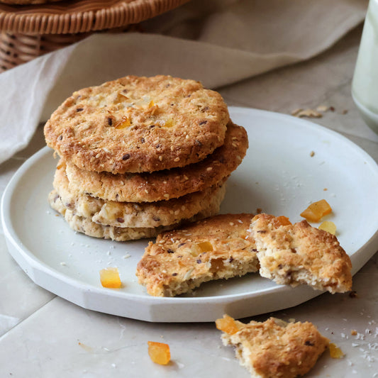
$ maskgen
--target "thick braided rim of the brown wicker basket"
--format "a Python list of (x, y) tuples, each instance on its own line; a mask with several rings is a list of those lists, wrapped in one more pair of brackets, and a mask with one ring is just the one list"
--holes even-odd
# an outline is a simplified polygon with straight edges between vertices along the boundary
[(40, 6), (0, 4), (0, 30), (7, 33), (65, 34), (140, 23), (189, 0), (78, 0)]

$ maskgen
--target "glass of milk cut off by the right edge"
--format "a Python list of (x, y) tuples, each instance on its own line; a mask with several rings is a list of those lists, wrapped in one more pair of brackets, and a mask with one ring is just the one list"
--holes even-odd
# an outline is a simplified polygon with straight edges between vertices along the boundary
[(378, 0), (369, 0), (352, 97), (367, 126), (378, 133)]

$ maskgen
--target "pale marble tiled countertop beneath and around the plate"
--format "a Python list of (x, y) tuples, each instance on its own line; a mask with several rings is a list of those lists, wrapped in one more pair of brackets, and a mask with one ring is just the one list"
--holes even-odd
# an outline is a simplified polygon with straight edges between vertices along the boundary
[[(378, 162), (378, 135), (350, 96), (361, 31), (352, 30), (312, 60), (218, 90), (228, 105), (280, 113), (333, 106), (311, 121), (345, 135)], [(0, 165), (1, 194), (23, 161), (44, 145), (40, 127), (28, 148)], [(213, 323), (148, 323), (80, 308), (36, 286), (9, 255), (2, 229), (0, 238), (0, 377), (250, 376), (232, 348), (223, 347)], [(378, 377), (377, 264), (375, 254), (355, 274), (357, 296), (322, 294), (273, 314), (313, 322), (345, 353), (341, 359), (324, 353), (307, 377)], [(148, 340), (169, 344), (168, 366), (150, 361)]]

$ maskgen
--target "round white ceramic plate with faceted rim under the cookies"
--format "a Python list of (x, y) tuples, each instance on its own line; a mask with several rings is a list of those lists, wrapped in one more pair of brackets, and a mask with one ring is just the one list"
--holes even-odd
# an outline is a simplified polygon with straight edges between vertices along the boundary
[[(230, 114), (248, 131), (250, 148), (228, 181), (221, 212), (260, 208), (296, 222), (309, 203), (326, 199), (333, 208), (328, 219), (357, 272), (378, 249), (374, 160), (342, 135), (299, 118), (235, 107)], [(74, 304), (144, 321), (193, 322), (267, 313), (321, 294), (248, 274), (209, 282), (191, 296), (148, 296), (135, 278), (147, 240), (116, 243), (74, 233), (48, 206), (55, 165), (49, 148), (30, 157), (4, 192), (1, 218), (9, 252), (26, 274)], [(101, 287), (104, 267), (118, 267), (123, 288)]]

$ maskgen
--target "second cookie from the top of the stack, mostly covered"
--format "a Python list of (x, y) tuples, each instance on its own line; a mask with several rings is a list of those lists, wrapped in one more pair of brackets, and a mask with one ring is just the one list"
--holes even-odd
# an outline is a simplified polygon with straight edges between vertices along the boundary
[(245, 156), (245, 129), (228, 123), (221, 147), (201, 162), (152, 173), (111, 174), (79, 169), (67, 163), (70, 188), (110, 201), (152, 202), (202, 191), (235, 170)]

